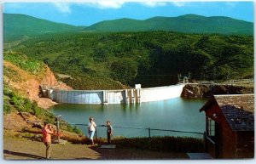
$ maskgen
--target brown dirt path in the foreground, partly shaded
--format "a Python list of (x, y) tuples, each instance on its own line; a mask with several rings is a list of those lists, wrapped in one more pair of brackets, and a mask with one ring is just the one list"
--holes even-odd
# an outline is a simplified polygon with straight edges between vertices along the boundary
[[(3, 139), (3, 156), (6, 160), (44, 159), (42, 142), (28, 139)], [(185, 154), (161, 153), (148, 150), (102, 149), (86, 144), (52, 144), (53, 160), (106, 160), (106, 159), (185, 159)]]

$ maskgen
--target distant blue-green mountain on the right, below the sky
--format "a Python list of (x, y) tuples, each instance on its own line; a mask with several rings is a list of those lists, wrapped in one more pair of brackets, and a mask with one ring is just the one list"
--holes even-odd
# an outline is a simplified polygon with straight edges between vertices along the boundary
[(205, 17), (186, 14), (177, 17), (154, 17), (148, 20), (105, 20), (85, 28), (86, 31), (178, 31), (186, 33), (220, 33), (253, 35), (253, 23), (229, 17)]

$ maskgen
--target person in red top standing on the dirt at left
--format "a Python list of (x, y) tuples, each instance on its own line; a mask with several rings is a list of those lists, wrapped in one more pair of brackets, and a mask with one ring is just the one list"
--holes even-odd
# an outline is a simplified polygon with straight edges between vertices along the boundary
[(50, 151), (51, 151), (51, 136), (50, 134), (54, 134), (54, 131), (50, 127), (49, 123), (44, 122), (44, 127), (42, 128), (43, 133), (43, 142), (46, 146), (46, 158), (49, 159)]

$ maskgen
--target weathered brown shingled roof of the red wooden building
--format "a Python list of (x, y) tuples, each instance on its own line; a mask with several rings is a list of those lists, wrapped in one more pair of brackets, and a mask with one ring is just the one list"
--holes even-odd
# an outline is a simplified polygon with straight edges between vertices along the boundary
[[(215, 95), (207, 105), (214, 99), (233, 131), (254, 130), (254, 94)], [(207, 105), (201, 110), (207, 110)]]

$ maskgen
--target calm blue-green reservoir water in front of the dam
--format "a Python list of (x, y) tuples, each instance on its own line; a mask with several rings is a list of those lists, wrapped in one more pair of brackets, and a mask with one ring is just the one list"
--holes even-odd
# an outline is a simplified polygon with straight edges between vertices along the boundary
[[(167, 99), (140, 105), (70, 105), (60, 104), (51, 107), (51, 111), (71, 124), (87, 124), (93, 116), (97, 127), (97, 136), (106, 138), (105, 125), (109, 120), (114, 136), (148, 137), (148, 129), (120, 127), (145, 127), (203, 133), (205, 131), (205, 113), (199, 112), (207, 99)], [(79, 127), (87, 135), (87, 127)], [(188, 136), (202, 138), (201, 134), (151, 131), (151, 136)]]

